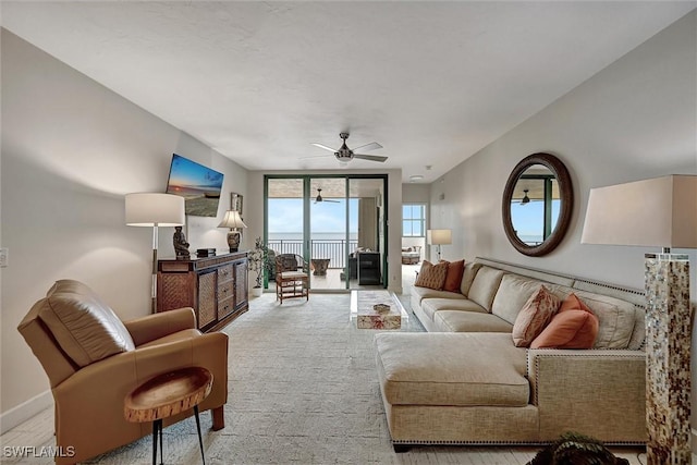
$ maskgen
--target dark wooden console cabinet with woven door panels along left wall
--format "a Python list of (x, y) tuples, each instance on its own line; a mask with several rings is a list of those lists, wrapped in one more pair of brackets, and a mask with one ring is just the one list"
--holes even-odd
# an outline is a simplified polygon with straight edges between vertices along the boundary
[(198, 329), (216, 331), (247, 311), (247, 253), (161, 259), (157, 265), (157, 311), (193, 307)]

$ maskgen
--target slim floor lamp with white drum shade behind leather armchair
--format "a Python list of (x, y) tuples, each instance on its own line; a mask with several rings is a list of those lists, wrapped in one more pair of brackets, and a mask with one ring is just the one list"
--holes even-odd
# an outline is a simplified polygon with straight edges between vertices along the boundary
[(184, 197), (171, 194), (126, 194), (126, 224), (152, 228), (151, 311), (157, 311), (157, 242), (158, 227), (184, 224)]

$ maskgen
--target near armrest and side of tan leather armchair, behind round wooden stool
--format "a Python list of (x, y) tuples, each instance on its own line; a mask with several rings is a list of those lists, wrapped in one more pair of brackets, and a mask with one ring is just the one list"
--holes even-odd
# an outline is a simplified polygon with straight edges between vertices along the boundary
[[(222, 407), (228, 399), (228, 335), (224, 333), (197, 334), (148, 345), (82, 368), (53, 388), (56, 417), (60, 418), (56, 423), (57, 445), (74, 446), (76, 455), (70, 463), (75, 463), (147, 435), (144, 431), (149, 431), (149, 425), (125, 420), (123, 400), (148, 379), (189, 366), (205, 367), (213, 375), (211, 392), (199, 409)], [(169, 417), (164, 425), (191, 414), (186, 411)]]

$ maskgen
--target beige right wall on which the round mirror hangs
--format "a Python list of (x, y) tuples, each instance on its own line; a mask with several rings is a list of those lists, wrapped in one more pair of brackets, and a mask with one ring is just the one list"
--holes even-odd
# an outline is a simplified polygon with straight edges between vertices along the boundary
[[(696, 83), (693, 12), (457, 166), (442, 183), (432, 183), (431, 227), (453, 228), (444, 258), (493, 257), (643, 289), (644, 254), (656, 249), (580, 244), (588, 192), (664, 174), (697, 174)], [(506, 240), (501, 195), (515, 164), (537, 151), (564, 161), (576, 200), (564, 241), (548, 256), (533, 258)], [(695, 301), (697, 256), (675, 252), (690, 255)], [(693, 357), (697, 387), (696, 375)], [(696, 394), (694, 389), (693, 402)]]

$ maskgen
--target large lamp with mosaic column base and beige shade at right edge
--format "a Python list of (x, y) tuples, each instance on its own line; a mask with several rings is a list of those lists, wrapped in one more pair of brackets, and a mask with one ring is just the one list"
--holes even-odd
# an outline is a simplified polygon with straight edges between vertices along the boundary
[(590, 189), (582, 243), (662, 247), (645, 255), (647, 460), (689, 465), (689, 260), (697, 248), (697, 175)]

